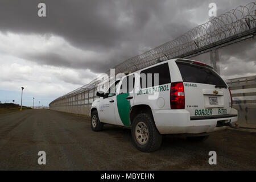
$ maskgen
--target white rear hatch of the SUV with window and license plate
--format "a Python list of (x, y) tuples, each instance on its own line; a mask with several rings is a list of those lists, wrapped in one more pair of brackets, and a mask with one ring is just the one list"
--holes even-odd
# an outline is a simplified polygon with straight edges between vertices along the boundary
[(183, 78), (185, 109), (191, 117), (225, 115), (231, 111), (231, 97), (225, 81), (209, 65), (176, 60)]

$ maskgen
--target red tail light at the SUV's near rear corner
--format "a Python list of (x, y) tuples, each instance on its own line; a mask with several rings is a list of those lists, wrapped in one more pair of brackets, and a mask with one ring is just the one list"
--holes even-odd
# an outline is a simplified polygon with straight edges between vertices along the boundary
[(172, 82), (170, 92), (171, 109), (185, 109), (183, 82)]

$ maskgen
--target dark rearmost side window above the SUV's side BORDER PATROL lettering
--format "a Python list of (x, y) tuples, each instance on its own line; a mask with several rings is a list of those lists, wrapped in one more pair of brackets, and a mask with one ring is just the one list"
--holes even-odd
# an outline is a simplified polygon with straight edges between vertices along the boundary
[[(157, 78), (158, 83), (155, 78)], [(156, 67), (144, 69), (140, 75), (141, 88), (169, 84), (171, 82), (170, 69), (168, 63), (157, 65)]]

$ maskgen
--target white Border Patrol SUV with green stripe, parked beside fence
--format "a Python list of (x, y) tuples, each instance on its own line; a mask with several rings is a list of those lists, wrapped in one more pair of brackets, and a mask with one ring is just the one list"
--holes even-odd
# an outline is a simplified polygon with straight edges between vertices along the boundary
[(232, 127), (237, 110), (225, 81), (204, 63), (172, 59), (116, 80), (90, 110), (93, 131), (104, 123), (130, 127), (138, 150), (157, 150), (162, 134), (204, 140)]

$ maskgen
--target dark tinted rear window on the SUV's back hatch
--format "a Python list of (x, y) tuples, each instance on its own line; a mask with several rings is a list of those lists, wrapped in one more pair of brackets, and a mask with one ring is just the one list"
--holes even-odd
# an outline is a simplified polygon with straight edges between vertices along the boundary
[(212, 69), (176, 62), (184, 82), (226, 86), (222, 78)]

